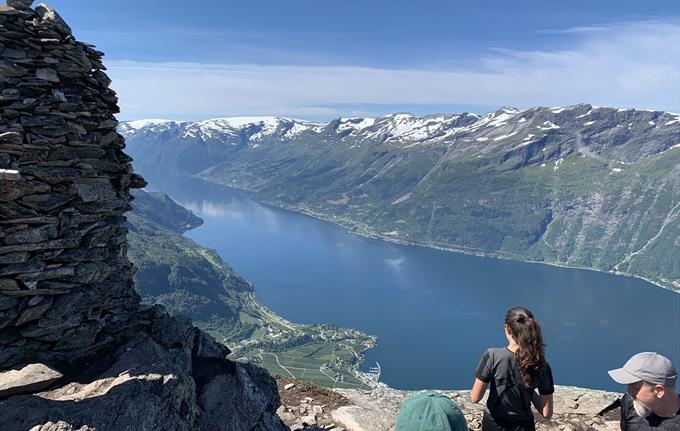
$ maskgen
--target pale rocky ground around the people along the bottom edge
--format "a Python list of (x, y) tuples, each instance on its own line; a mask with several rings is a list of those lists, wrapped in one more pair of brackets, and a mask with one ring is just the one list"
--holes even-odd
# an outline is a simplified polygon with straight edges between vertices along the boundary
[[(280, 377), (277, 377), (277, 383), (282, 404), (277, 413), (294, 431), (391, 431), (404, 399), (417, 393), (389, 387), (371, 391), (330, 390)], [(484, 400), (473, 403), (468, 391), (441, 392), (458, 404), (471, 430), (481, 429)], [(555, 414), (549, 421), (536, 415), (536, 428), (539, 431), (615, 431), (619, 424), (618, 409), (602, 416), (598, 416), (598, 412), (620, 396), (612, 392), (557, 386)]]

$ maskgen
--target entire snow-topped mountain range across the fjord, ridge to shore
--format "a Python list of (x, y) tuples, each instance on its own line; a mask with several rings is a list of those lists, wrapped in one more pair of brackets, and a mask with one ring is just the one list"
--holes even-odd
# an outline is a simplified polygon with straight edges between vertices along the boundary
[(575, 105), (120, 131), (142, 172), (201, 176), (397, 241), (680, 289), (676, 114)]

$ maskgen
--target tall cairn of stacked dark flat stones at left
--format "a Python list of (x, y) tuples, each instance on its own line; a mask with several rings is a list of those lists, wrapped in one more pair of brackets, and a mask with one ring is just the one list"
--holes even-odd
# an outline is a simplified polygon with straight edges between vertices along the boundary
[(73, 361), (139, 307), (130, 188), (102, 53), (49, 6), (0, 6), (0, 370)]

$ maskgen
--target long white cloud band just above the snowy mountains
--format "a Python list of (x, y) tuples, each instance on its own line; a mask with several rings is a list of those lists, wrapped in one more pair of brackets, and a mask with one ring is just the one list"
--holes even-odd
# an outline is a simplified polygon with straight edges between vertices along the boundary
[(572, 39), (568, 49), (496, 49), (467, 62), (467, 68), (455, 69), (131, 61), (107, 66), (120, 96), (121, 118), (127, 119), (328, 117), (372, 104), (529, 107), (585, 102), (680, 111), (677, 24), (622, 23), (564, 33)]

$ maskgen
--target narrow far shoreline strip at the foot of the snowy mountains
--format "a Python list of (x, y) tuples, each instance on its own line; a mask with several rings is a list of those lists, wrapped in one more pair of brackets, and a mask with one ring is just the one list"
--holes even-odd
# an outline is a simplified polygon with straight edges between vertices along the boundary
[[(308, 208), (305, 208), (305, 207), (299, 207), (299, 206), (294, 206), (294, 205), (286, 205), (286, 204), (281, 203), (281, 202), (260, 199), (260, 198), (257, 198), (255, 196), (256, 193), (257, 193), (255, 190), (248, 189), (248, 188), (245, 188), (245, 187), (239, 187), (237, 185), (227, 185), (227, 184), (223, 184), (223, 183), (220, 183), (220, 182), (217, 182), (217, 181), (214, 181), (214, 180), (210, 180), (210, 179), (207, 179), (207, 178), (203, 178), (203, 177), (200, 177), (200, 176), (195, 176), (194, 178), (199, 179), (201, 181), (209, 182), (211, 184), (218, 185), (220, 187), (227, 187), (227, 188), (230, 188), (230, 189), (233, 189), (233, 190), (240, 190), (240, 191), (246, 192), (246, 193), (248, 193), (250, 198), (252, 198), (253, 200), (255, 200), (256, 202), (258, 202), (260, 204), (268, 205), (268, 206), (278, 208), (278, 209), (283, 209), (283, 210), (286, 210), (286, 211), (291, 211), (291, 212), (294, 212), (294, 213), (297, 213), (297, 214), (306, 215), (308, 217), (312, 217), (312, 218), (317, 219), (317, 220), (323, 220), (325, 222), (329, 222), (329, 223), (332, 223), (336, 226), (340, 226), (340, 227), (346, 229), (348, 233), (358, 235), (358, 236), (361, 236), (361, 237), (364, 237), (364, 238), (376, 239), (376, 240), (390, 242), (390, 243), (399, 244), (399, 245), (424, 247), (424, 248), (429, 248), (429, 249), (434, 249), (434, 250), (446, 251), (446, 252), (449, 252), (449, 253), (461, 253), (461, 254), (465, 254), (465, 255), (468, 255), (468, 256), (486, 257), (486, 258), (492, 258), (492, 259), (502, 259), (502, 260), (507, 260), (507, 261), (523, 262), (523, 263), (529, 263), (529, 264), (549, 265), (549, 266), (554, 266), (554, 267), (557, 267), (557, 268), (582, 269), (582, 270), (586, 270), (586, 271), (599, 272), (599, 273), (602, 273), (602, 274), (611, 274), (611, 275), (622, 276), (622, 277), (636, 278), (638, 280), (646, 281), (647, 283), (652, 284), (652, 285), (659, 287), (661, 289), (680, 294), (680, 288), (675, 289), (675, 288), (669, 287), (667, 285), (661, 284), (658, 281), (654, 281), (654, 280), (651, 280), (649, 278), (646, 278), (644, 276), (637, 275), (637, 274), (630, 274), (630, 273), (623, 272), (623, 271), (606, 271), (606, 270), (603, 270), (603, 269), (597, 269), (597, 268), (593, 268), (593, 267), (569, 265), (569, 264), (564, 264), (564, 263), (560, 263), (560, 262), (528, 260), (526, 258), (521, 258), (519, 256), (517, 258), (514, 258), (512, 256), (504, 256), (504, 255), (500, 255), (500, 254), (485, 253), (485, 252), (481, 252), (481, 251), (473, 250), (473, 249), (454, 248), (454, 247), (446, 247), (446, 246), (440, 246), (440, 245), (435, 245), (435, 244), (419, 243), (419, 242), (415, 242), (415, 241), (401, 240), (401, 239), (393, 238), (393, 237), (390, 237), (390, 236), (381, 235), (381, 234), (378, 234), (378, 233), (364, 233), (364, 232), (360, 232), (360, 231), (355, 231), (354, 228), (359, 226), (358, 222), (352, 222), (351, 220), (349, 220), (349, 221), (338, 220), (337, 218), (335, 218), (332, 215), (320, 213), (320, 212), (317, 212), (317, 211), (314, 211), (314, 210), (311, 210), (311, 209), (308, 209)], [(355, 224), (353, 225), (351, 223), (355, 223)]]

